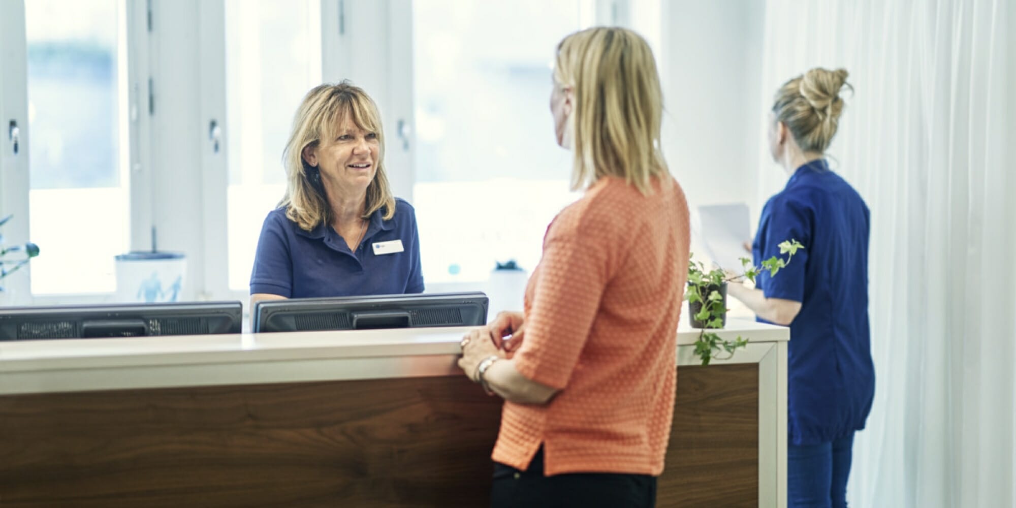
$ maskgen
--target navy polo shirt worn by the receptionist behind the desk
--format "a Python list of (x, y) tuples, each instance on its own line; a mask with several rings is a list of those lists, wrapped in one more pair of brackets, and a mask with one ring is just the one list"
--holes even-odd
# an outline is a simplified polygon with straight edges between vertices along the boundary
[[(284, 208), (272, 210), (261, 227), (251, 294), (312, 298), (423, 293), (412, 205), (396, 198), (390, 220), (381, 218), (383, 210), (371, 214), (356, 252), (331, 226), (304, 231), (287, 218)], [(402, 252), (376, 253), (375, 244), (395, 240), (401, 240)]]

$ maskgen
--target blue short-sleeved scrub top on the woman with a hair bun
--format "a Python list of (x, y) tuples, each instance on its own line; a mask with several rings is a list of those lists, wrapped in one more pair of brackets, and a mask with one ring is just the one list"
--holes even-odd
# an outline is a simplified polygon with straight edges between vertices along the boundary
[(801, 302), (790, 323), (787, 363), (789, 440), (819, 444), (865, 428), (875, 396), (868, 323), (868, 238), (865, 201), (824, 160), (798, 168), (762, 209), (755, 264), (779, 254), (779, 243), (805, 246), (757, 288), (766, 298)]

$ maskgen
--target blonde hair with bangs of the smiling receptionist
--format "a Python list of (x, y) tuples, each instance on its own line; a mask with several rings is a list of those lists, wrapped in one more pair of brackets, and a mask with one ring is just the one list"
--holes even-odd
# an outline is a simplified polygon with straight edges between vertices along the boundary
[(321, 185), (318, 169), (304, 161), (304, 148), (317, 146), (321, 139), (334, 137), (335, 131), (346, 119), (367, 132), (377, 134), (377, 173), (367, 187), (367, 200), (363, 218), (385, 208), (382, 217), (390, 219), (395, 214), (395, 197), (391, 193), (384, 171), (384, 130), (377, 105), (363, 88), (348, 81), (338, 84), (320, 84), (307, 92), (293, 119), (290, 141), (282, 151), (285, 166), (285, 196), (278, 206), (285, 207), (285, 216), (304, 231), (311, 231), (320, 224), (329, 224), (331, 207)]

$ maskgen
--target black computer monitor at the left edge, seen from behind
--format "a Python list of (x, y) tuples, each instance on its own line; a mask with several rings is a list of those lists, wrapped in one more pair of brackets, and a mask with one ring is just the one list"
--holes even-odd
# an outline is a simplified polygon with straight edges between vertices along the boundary
[(240, 302), (0, 308), (0, 340), (240, 333)]

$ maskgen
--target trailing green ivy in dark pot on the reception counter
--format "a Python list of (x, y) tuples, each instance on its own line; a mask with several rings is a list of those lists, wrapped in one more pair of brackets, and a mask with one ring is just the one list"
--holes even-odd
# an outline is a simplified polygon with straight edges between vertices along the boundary
[[(761, 265), (754, 266), (748, 258), (741, 258), (742, 272), (728, 273), (715, 269), (706, 269), (702, 261), (694, 257), (688, 261), (688, 290), (685, 300), (688, 301), (688, 312), (693, 328), (699, 328), (699, 337), (695, 341), (695, 355), (702, 360), (702, 365), (709, 365), (713, 359), (727, 359), (740, 347), (748, 345), (748, 339), (738, 336), (734, 340), (720, 338), (708, 330), (720, 329), (726, 325), (726, 287), (729, 282), (742, 282), (745, 279), (755, 281), (755, 276), (762, 270), (768, 270), (770, 276), (785, 267), (795, 254), (805, 247), (797, 240), (788, 240), (779, 244), (779, 253), (786, 254), (786, 259), (773, 256), (763, 260)], [(725, 357), (720, 355), (725, 354)]]

